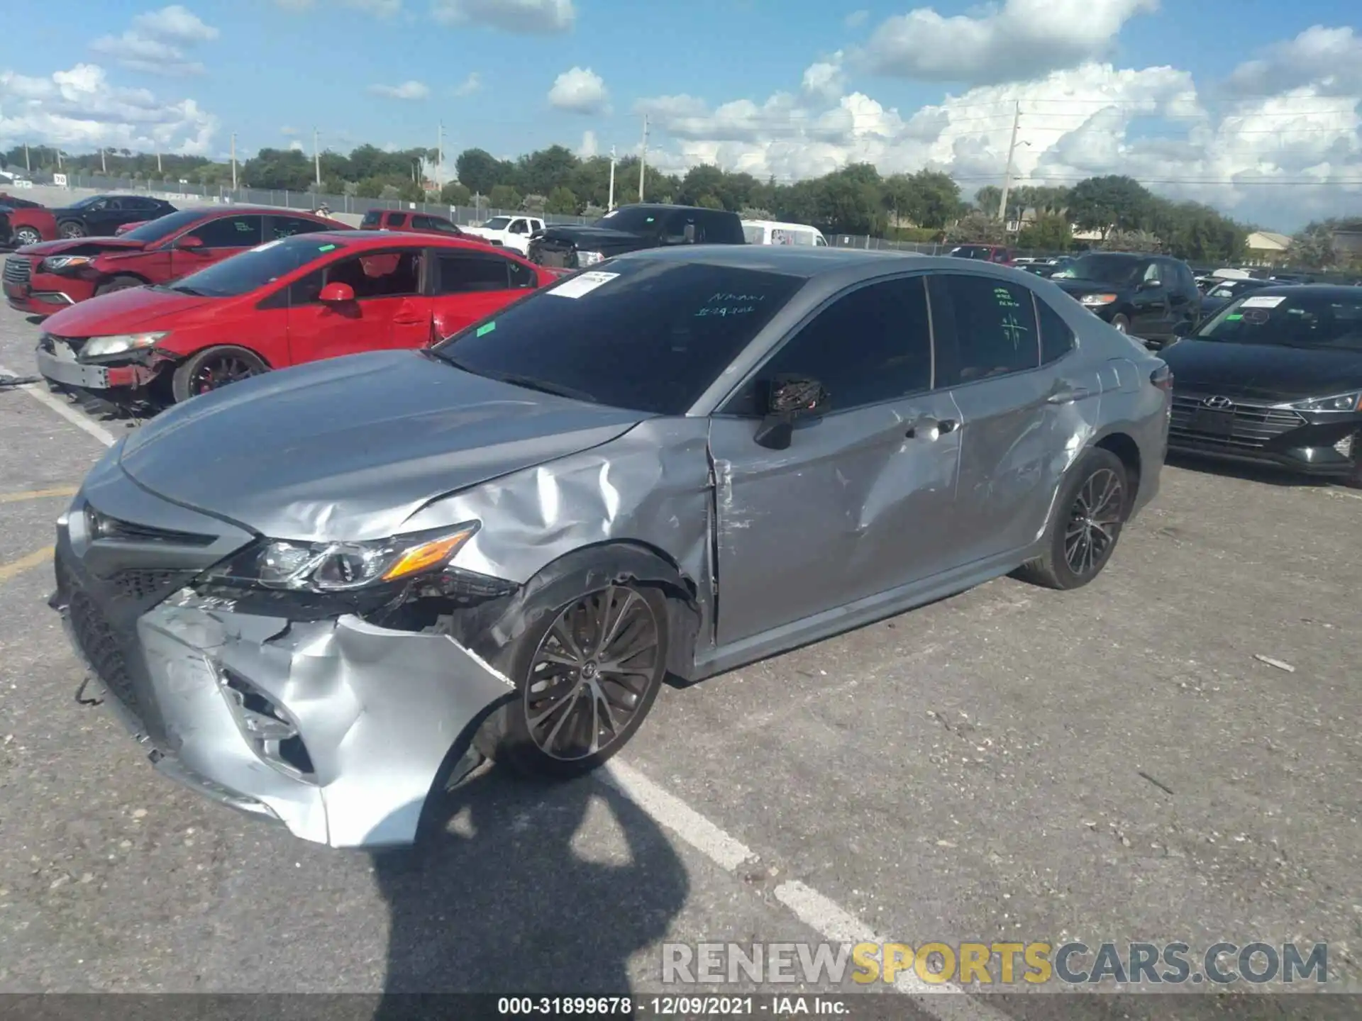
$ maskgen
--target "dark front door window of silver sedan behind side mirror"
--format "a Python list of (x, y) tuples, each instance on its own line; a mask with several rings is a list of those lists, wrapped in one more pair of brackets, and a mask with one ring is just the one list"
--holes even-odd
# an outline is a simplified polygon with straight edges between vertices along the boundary
[(836, 298), (775, 353), (733, 410), (760, 414), (761, 395), (780, 374), (817, 380), (832, 412), (930, 389), (926, 278), (880, 280)]

